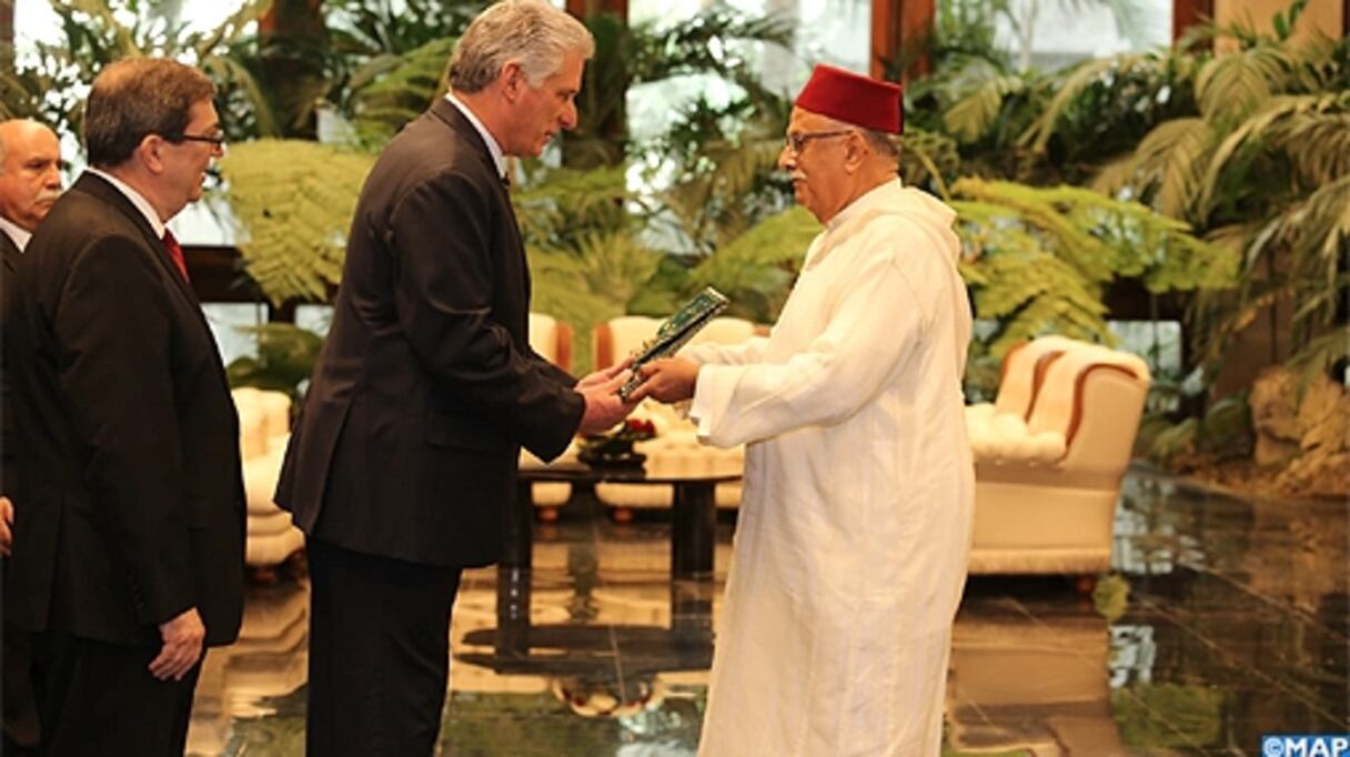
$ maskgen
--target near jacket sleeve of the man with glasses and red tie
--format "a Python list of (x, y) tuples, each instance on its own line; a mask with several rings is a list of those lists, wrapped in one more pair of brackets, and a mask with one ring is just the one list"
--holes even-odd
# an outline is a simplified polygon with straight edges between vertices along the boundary
[(62, 394), (89, 453), (84, 506), (126, 560), (136, 619), (161, 623), (192, 607), (194, 591), (174, 412), (188, 398), (174, 397), (173, 310), (150, 255), (123, 236), (78, 254), (53, 328)]

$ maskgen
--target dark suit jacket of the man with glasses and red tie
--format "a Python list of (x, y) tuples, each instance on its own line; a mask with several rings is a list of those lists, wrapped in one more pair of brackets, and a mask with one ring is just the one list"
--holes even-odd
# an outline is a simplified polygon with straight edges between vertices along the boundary
[(5, 324), (22, 437), (7, 615), (158, 646), (197, 607), (243, 611), (239, 420), (196, 296), (144, 216), (85, 174), (19, 264)]

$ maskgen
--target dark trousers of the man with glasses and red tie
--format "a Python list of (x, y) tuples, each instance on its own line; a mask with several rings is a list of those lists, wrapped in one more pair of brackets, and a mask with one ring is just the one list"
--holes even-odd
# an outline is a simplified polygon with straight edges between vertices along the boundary
[(159, 648), (47, 632), (34, 640), (34, 688), (49, 757), (181, 757), (198, 661), (182, 680), (150, 675)]

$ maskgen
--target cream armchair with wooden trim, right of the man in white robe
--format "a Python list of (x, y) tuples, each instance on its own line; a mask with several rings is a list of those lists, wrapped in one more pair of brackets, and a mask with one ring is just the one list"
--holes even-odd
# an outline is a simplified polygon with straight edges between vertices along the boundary
[(967, 412), (972, 573), (1110, 568), (1115, 505), (1149, 382), (1138, 356), (1064, 337), (1008, 355), (998, 401)]

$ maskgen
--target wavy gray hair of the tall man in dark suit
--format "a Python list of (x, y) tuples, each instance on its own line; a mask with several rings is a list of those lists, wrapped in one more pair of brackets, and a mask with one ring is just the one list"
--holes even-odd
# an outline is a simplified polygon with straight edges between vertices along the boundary
[(509, 62), (539, 86), (563, 66), (567, 53), (589, 61), (595, 39), (580, 22), (544, 0), (502, 0), (474, 19), (450, 58), (450, 86), (473, 94), (497, 81)]

